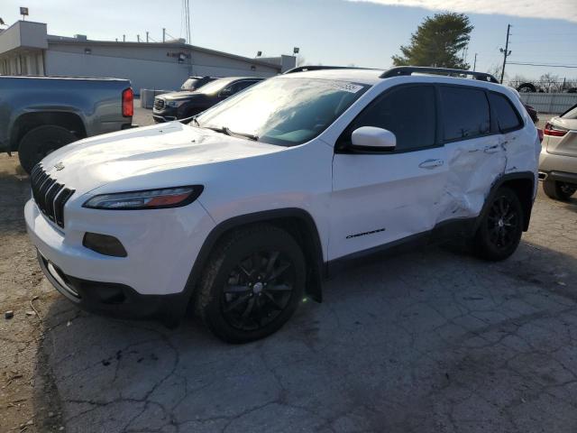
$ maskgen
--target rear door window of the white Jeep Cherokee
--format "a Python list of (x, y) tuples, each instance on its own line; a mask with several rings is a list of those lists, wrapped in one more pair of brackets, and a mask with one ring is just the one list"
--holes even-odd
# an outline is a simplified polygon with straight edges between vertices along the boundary
[(489, 102), (483, 90), (441, 87), (444, 140), (463, 140), (490, 133)]

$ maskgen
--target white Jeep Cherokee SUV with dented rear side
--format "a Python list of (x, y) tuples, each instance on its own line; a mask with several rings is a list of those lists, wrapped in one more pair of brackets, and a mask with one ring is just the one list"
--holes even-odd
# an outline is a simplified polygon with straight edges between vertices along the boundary
[(114, 316), (175, 322), (190, 306), (246, 342), (320, 300), (347, 259), (454, 235), (485, 259), (515, 251), (540, 143), (511, 90), (453, 69), (307, 69), (189, 124), (50, 153), (25, 218), (51, 283)]

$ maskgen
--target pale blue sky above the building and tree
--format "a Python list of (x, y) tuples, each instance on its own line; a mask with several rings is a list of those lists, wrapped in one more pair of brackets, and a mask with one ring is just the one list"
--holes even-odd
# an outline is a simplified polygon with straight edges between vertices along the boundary
[[(577, 0), (189, 0), (192, 43), (254, 57), (291, 54), (300, 48), (306, 64), (391, 66), (391, 56), (408, 44), (426, 16), (438, 12), (467, 14), (474, 30), (467, 60), (487, 71), (503, 61), (507, 25), (510, 62), (567, 65), (575, 68), (509, 64), (509, 77), (538, 78), (551, 72), (577, 78)], [(136, 41), (150, 32), (160, 41), (162, 28), (184, 37), (181, 0), (1, 0), (6, 24), (20, 19), (47, 23), (61, 36)]]

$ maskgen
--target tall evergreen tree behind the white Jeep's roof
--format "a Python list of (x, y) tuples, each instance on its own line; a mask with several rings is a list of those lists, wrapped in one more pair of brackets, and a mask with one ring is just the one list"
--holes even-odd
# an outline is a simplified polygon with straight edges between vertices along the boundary
[(402, 56), (393, 56), (396, 66), (434, 66), (437, 68), (468, 69), (469, 64), (459, 55), (471, 39), (473, 26), (465, 14), (435, 14), (426, 17), (411, 35), (411, 43), (401, 46)]

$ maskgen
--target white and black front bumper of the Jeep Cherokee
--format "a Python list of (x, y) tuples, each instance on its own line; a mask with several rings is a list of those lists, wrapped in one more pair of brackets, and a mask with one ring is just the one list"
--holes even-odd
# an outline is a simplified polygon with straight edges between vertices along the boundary
[[(24, 207), (26, 229), (39, 251), (42, 271), (62, 294), (83, 309), (119, 317), (174, 314), (171, 304), (184, 313), (190, 270), (214, 227), (198, 202), (143, 211), (67, 205), (66, 212), (65, 233), (32, 199)], [(89, 250), (82, 244), (87, 232), (114, 235), (124, 244), (127, 257)]]

